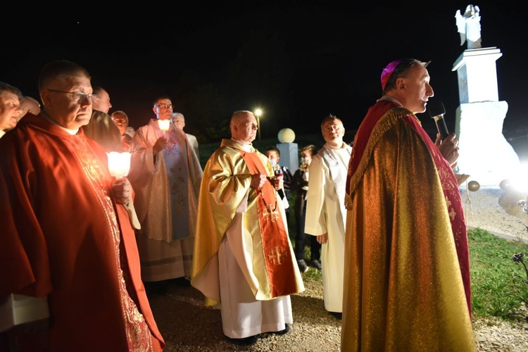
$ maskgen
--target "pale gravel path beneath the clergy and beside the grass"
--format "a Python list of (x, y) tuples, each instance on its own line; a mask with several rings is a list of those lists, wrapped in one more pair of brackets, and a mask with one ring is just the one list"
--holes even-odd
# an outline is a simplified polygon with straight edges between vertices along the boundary
[[(475, 192), (463, 187), (461, 193), (468, 227), (480, 227), (507, 239), (528, 239), (524, 225), (528, 215), (515, 203), (517, 194), (505, 194), (498, 187)], [(237, 346), (224, 337), (220, 310), (204, 307), (203, 296), (194, 287), (173, 282), (164, 294), (149, 294), (149, 298), (167, 352), (340, 351), (341, 321), (325, 310), (322, 282), (307, 279), (305, 286), (302, 294), (291, 296), (291, 332), (264, 334), (251, 347)], [(526, 322), (475, 320), (473, 325), (477, 351), (528, 351)]]

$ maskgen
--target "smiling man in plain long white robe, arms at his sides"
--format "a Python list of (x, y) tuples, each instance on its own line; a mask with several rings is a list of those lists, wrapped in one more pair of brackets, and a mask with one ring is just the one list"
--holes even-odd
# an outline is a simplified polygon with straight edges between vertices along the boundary
[(321, 247), (325, 309), (341, 319), (345, 247), (346, 172), (352, 147), (343, 142), (343, 122), (328, 115), (321, 124), (326, 144), (310, 163), (305, 232), (317, 236)]

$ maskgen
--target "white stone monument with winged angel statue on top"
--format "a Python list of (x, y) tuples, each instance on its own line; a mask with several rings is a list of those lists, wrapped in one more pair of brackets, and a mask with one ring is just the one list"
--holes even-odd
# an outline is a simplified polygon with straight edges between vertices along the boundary
[[(460, 10), (455, 15), (458, 32), (459, 17)], [(519, 157), (502, 134), (508, 111), (508, 103), (498, 100), (496, 60), (502, 54), (495, 46), (481, 47), (478, 6), (467, 6), (463, 20), (467, 49), (453, 64), (460, 99), (455, 123), (460, 147), (458, 173), (470, 175), (481, 185), (498, 186), (520, 172)], [(468, 25), (468, 21), (476, 21), (478, 27), (474, 23)], [(460, 45), (463, 44), (464, 40)]]

